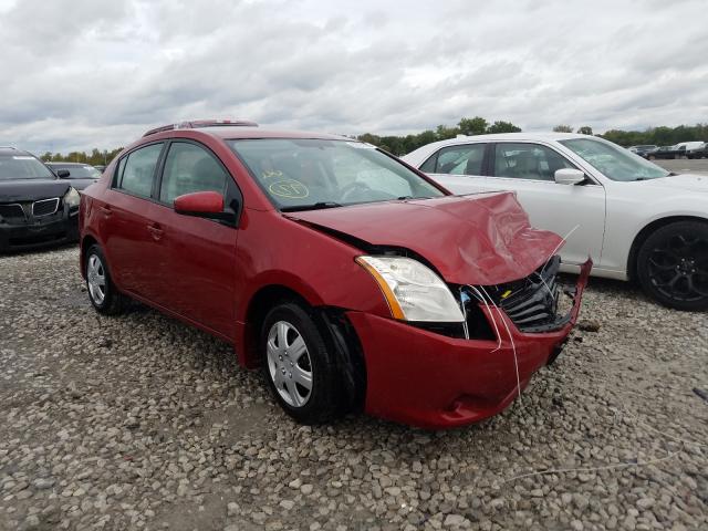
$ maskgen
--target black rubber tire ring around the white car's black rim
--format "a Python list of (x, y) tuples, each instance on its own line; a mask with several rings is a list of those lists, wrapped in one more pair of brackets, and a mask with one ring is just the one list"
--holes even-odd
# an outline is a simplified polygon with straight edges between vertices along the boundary
[(701, 221), (676, 221), (660, 227), (652, 236), (649, 236), (642, 244), (642, 248), (639, 249), (639, 252), (637, 254), (637, 277), (639, 279), (639, 283), (645, 293), (647, 293), (652, 299), (665, 306), (683, 311), (706, 310), (708, 309), (708, 296), (705, 296), (698, 301), (678, 301), (676, 299), (668, 298), (664, 293), (659, 292), (654, 287), (649, 278), (647, 262), (650, 250), (659, 246), (676, 232), (685, 232), (690, 235), (701, 233), (704, 238), (708, 240), (708, 223)]

